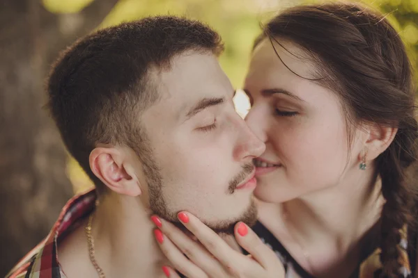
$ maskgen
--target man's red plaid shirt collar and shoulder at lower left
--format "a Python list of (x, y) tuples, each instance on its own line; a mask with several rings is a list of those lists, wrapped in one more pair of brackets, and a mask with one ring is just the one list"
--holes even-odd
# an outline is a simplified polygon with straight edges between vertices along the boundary
[(95, 190), (72, 197), (63, 207), (47, 238), (26, 254), (6, 278), (65, 278), (56, 255), (57, 242), (79, 227), (93, 211), (96, 197)]

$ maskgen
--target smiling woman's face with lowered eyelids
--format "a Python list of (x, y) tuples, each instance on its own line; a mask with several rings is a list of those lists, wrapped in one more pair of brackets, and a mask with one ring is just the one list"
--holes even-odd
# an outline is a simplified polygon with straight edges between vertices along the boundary
[(307, 80), (315, 77), (311, 60), (296, 44), (281, 44), (287, 50), (276, 43), (274, 48), (283, 63), (270, 40), (258, 44), (244, 88), (251, 101), (247, 124), (266, 145), (256, 160), (254, 191), (265, 202), (285, 202), (336, 186), (349, 172), (359, 172), (362, 152), (357, 136), (349, 152), (337, 95)]

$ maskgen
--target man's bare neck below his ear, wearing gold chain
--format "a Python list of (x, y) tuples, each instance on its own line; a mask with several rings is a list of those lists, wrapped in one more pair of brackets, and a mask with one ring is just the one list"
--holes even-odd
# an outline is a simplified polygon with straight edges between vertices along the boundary
[(101, 199), (92, 234), (96, 259), (107, 277), (163, 275), (164, 255), (153, 236), (150, 213), (137, 197), (109, 194)]

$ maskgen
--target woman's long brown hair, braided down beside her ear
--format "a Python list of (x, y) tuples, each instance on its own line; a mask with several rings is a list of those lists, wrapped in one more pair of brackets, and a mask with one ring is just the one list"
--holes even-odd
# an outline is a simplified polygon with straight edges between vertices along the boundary
[(263, 27), (255, 46), (263, 39), (290, 40), (306, 50), (316, 63), (316, 82), (339, 95), (348, 122), (398, 128), (374, 163), (386, 199), (381, 277), (399, 277), (399, 230), (412, 223), (417, 204), (405, 170), (417, 159), (418, 137), (412, 68), (401, 38), (383, 15), (355, 4), (326, 3), (284, 10)]

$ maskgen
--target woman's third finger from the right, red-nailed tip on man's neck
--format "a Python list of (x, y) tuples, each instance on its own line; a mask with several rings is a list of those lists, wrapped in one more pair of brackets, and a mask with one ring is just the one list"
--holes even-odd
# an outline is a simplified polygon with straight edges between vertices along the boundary
[[(196, 243), (196, 241), (192, 240), (189, 236), (184, 234), (183, 231), (180, 231), (178, 227), (174, 226), (170, 222), (167, 222), (161, 218), (156, 218), (157, 216), (154, 215), (151, 219), (155, 224), (159, 223), (157, 226), (164, 233), (164, 236), (169, 238), (169, 240), (171, 240), (171, 242), (176, 245), (180, 252), (185, 254), (185, 256), (187, 256), (187, 258), (192, 261), (194, 265), (208, 273), (210, 277), (226, 277), (226, 271), (222, 265), (217, 261), (217, 259), (213, 258), (212, 255), (199, 243)], [(169, 248), (170, 247), (167, 247), (168, 251)], [(184, 265), (184, 268), (185, 267), (186, 266)]]

